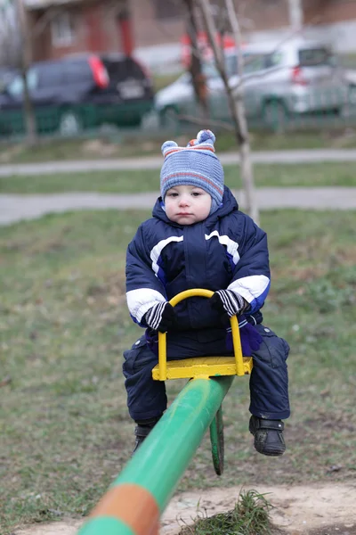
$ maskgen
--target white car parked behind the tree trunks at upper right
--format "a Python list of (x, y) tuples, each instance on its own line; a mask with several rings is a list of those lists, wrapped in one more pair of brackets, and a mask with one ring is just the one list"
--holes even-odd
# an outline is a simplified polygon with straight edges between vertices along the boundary
[[(318, 111), (340, 112), (347, 102), (344, 69), (328, 46), (302, 38), (284, 44), (267, 43), (243, 48), (243, 92), (247, 117), (272, 125), (297, 115)], [(229, 84), (239, 86), (236, 53), (225, 57)], [(214, 62), (205, 63), (211, 119), (231, 117), (223, 80)], [(168, 118), (197, 116), (190, 73), (182, 74), (156, 95), (162, 123)]]

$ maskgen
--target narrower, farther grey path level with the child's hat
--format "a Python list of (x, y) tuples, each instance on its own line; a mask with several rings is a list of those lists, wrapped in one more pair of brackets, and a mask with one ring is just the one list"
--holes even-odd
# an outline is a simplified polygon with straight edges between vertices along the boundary
[[(305, 149), (297, 151), (252, 152), (254, 163), (317, 163), (322, 161), (356, 161), (354, 149)], [(238, 152), (221, 152), (219, 159), (223, 164), (239, 163)], [(0, 177), (12, 175), (51, 175), (53, 173), (73, 173), (98, 170), (159, 169), (162, 156), (140, 156), (117, 160), (103, 159), (93, 161), (48, 161), (43, 163), (13, 163), (0, 165)]]

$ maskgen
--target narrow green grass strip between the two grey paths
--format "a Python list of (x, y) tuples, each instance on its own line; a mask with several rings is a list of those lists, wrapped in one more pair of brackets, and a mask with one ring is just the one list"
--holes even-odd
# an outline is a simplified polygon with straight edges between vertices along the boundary
[[(257, 187), (356, 186), (356, 162), (255, 165), (254, 169)], [(238, 166), (224, 166), (224, 170), (226, 185), (242, 187)], [(0, 177), (0, 193), (139, 193), (158, 189), (159, 169)]]

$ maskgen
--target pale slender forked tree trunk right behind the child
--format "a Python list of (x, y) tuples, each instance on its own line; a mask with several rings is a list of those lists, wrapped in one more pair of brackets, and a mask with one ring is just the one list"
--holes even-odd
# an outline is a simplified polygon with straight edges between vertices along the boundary
[(247, 212), (254, 219), (255, 223), (259, 224), (259, 211), (255, 196), (255, 184), (254, 175), (252, 169), (250, 144), (248, 137), (247, 119), (245, 113), (245, 106), (243, 103), (243, 91), (242, 91), (242, 74), (243, 63), (241, 53), (241, 37), (239, 31), (239, 21), (237, 19), (232, 0), (225, 0), (227, 6), (227, 12), (231, 22), (231, 28), (233, 29), (237, 52), (239, 55), (239, 87), (238, 95), (234, 95), (229, 85), (229, 79), (225, 69), (225, 62), (223, 57), (223, 50), (217, 45), (215, 40), (216, 29), (214, 25), (214, 19), (210, 10), (210, 4), (208, 0), (199, 0), (203, 19), (206, 24), (206, 31), (210, 45), (213, 48), (214, 59), (216, 68), (219, 70), (221, 77), (223, 78), (223, 84), (228, 97), (229, 107), (231, 110), (231, 118), (234, 124), (235, 135), (239, 144), (239, 156), (240, 156), (240, 171), (242, 177), (242, 183), (246, 194)]

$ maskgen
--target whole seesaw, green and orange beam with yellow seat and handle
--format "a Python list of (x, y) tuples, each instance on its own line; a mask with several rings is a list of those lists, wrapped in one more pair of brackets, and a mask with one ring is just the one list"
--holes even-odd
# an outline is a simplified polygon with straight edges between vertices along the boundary
[[(210, 298), (204, 289), (186, 290), (169, 302)], [(164, 512), (206, 430), (215, 473), (223, 473), (222, 403), (235, 375), (250, 374), (252, 357), (243, 357), (236, 316), (231, 317), (234, 357), (197, 357), (166, 361), (166, 333), (158, 333), (158, 365), (153, 379), (190, 381), (93, 508), (78, 535), (158, 535)]]

